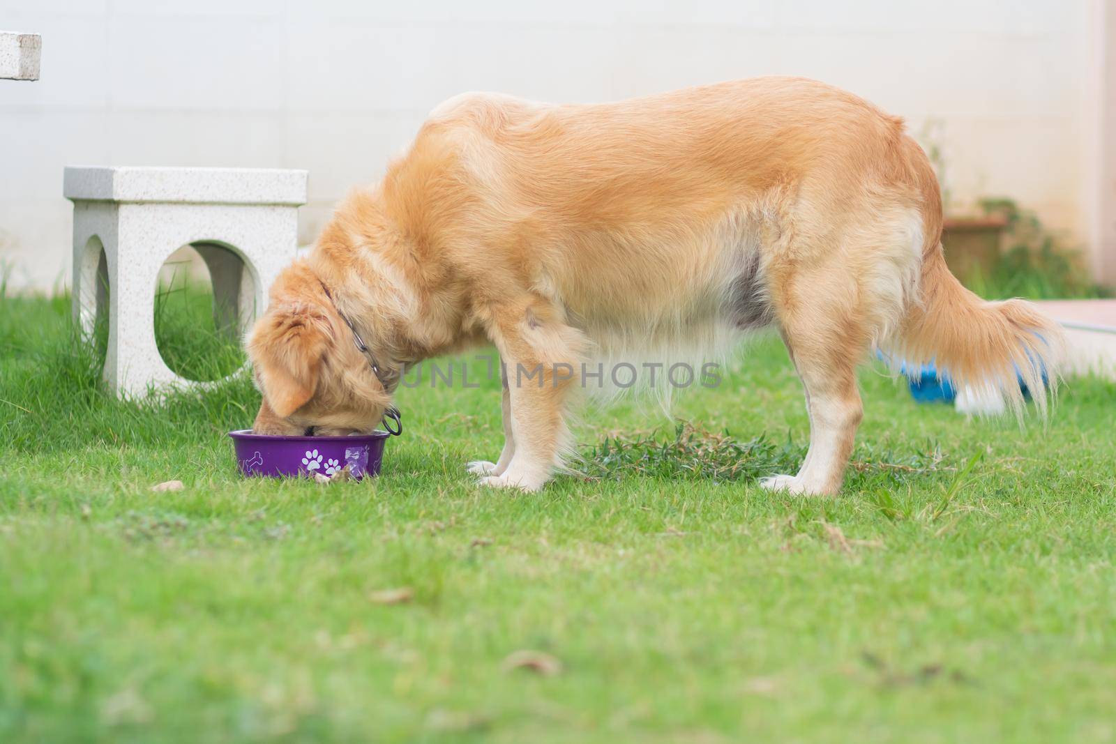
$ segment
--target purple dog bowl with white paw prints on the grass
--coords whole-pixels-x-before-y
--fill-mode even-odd
[[[246,428],[229,432],[244,475],[333,475],[348,465],[355,479],[378,475],[387,432],[352,436],[271,436]]]

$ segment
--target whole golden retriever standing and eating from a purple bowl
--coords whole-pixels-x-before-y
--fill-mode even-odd
[[[810,444],[797,475],[762,484],[831,494],[872,351],[934,361],[1017,414],[1018,374],[1046,413],[1057,327],[964,289],[941,234],[937,181],[902,119],[821,83],[599,105],[458,96],[271,288],[247,344],[254,426],[372,429],[405,368],[491,342],[508,370],[506,442],[469,468],[536,490],[569,446],[566,369],[680,348],[710,358],[770,326],[805,387]]]

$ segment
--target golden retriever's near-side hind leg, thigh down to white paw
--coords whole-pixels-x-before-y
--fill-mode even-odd
[[[810,448],[797,475],[764,479],[770,489],[840,489],[863,417],[856,368],[895,331],[916,291],[921,212],[902,193],[870,184],[865,193],[837,224],[801,210],[785,242],[773,244],[768,289],[806,389]]]

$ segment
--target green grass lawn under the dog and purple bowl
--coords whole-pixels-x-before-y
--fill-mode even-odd
[[[866,369],[846,489],[798,499],[754,481],[807,436],[764,339],[677,437],[590,407],[541,493],[464,473],[498,383],[402,390],[383,475],[324,486],[238,476],[243,379],[106,397],[67,315],[0,297],[0,742],[1116,738],[1109,384],[1020,431]]]

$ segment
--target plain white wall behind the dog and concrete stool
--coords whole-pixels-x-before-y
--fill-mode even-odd
[[[1096,0],[1091,0],[1096,1]],[[1003,194],[1088,231],[1087,0],[0,0],[42,33],[0,80],[0,261],[68,283],[65,164],[310,171],[301,239],[379,176],[440,100],[596,102],[764,74],[942,123],[963,202]]]

